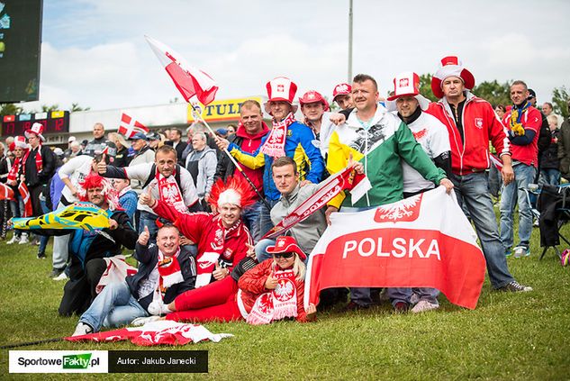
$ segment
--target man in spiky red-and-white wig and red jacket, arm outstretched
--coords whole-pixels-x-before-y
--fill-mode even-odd
[[[253,241],[241,214],[255,200],[256,194],[243,177],[231,177],[226,184],[219,179],[212,187],[210,204],[217,213],[180,213],[149,193],[140,195],[139,201],[159,217],[174,222],[186,238],[196,242],[197,288],[228,277],[246,257]]]

